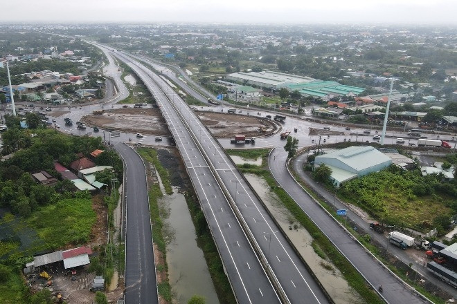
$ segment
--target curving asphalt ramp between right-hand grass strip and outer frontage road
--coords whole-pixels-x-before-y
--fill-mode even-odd
[[[276,161],[271,160],[271,157],[276,158]],[[287,153],[280,151],[280,149],[275,149],[271,157],[269,167],[276,181],[375,289],[379,285],[384,287],[382,296],[388,303],[429,303],[422,296],[406,287],[403,281],[388,272],[379,260],[369,254],[366,249],[341,228],[341,225],[336,220],[330,218],[329,213],[319,207],[305,193],[285,167]]]

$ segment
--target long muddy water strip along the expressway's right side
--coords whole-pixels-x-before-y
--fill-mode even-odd
[[[247,180],[256,190],[271,214],[279,222],[287,236],[292,240],[301,256],[310,265],[312,271],[321,281],[325,290],[330,294],[333,301],[338,304],[364,303],[363,299],[352,289],[347,281],[341,276],[339,270],[329,261],[319,258],[311,246],[312,237],[298,222],[294,222],[292,214],[281,204],[280,200],[269,189],[267,183],[257,175],[246,175]],[[294,226],[298,225],[298,227]],[[289,230],[292,227],[292,230]],[[325,269],[322,265],[332,266]]]

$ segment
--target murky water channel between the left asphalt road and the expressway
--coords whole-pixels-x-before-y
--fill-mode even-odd
[[[194,294],[204,296],[206,303],[219,303],[203,251],[197,247],[186,199],[178,191],[174,187],[173,194],[161,200],[162,207],[169,211],[164,237],[174,303],[187,303]]]

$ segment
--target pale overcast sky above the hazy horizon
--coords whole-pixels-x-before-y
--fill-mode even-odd
[[[6,0],[0,22],[456,24],[456,0]]]

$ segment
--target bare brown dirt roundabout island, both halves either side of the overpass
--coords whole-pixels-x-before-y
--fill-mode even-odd
[[[271,120],[255,116],[213,112],[196,114],[215,137],[233,137],[238,133],[255,137],[274,132],[278,128]],[[87,115],[82,121],[89,126],[98,126],[102,129],[153,135],[169,134],[160,110],[155,108],[120,108],[105,111],[102,115]]]

